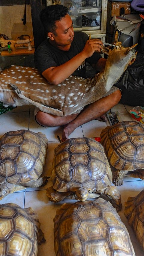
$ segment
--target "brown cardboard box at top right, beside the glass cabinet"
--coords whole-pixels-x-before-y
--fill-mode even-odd
[[[112,2],[111,16],[120,16],[121,8],[125,9],[125,14],[131,14],[131,7],[128,2]]]

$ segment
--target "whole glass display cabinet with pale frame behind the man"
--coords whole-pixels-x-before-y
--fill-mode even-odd
[[[74,30],[84,31],[91,38],[105,41],[107,0],[47,0],[47,5],[67,6]]]

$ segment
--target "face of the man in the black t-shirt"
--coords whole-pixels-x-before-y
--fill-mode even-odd
[[[57,46],[65,46],[71,44],[73,41],[74,31],[73,22],[70,16],[67,14],[61,20],[55,22],[56,35],[53,35],[55,44]]]

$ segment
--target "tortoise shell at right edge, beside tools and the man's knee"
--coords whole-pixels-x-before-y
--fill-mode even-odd
[[[144,125],[123,121],[102,130],[101,144],[112,166],[134,171],[144,168]]]

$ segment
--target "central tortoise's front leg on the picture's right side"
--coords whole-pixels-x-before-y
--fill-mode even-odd
[[[100,191],[100,193],[109,197],[111,204],[116,208],[117,212],[122,209],[121,194],[116,186],[108,186],[104,190]]]

